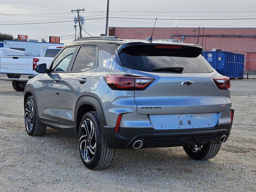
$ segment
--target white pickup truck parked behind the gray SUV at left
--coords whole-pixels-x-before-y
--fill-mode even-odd
[[[49,46],[44,56],[1,56],[0,80],[11,80],[16,91],[24,91],[26,82],[38,73],[34,70],[37,64],[46,63],[48,66],[63,46]]]

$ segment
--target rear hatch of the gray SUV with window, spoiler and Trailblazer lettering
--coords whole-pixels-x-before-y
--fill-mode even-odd
[[[155,78],[134,91],[138,114],[148,115],[155,129],[216,126],[227,110],[225,90],[216,86],[216,72],[200,53],[198,47],[154,44],[120,51],[127,74]]]

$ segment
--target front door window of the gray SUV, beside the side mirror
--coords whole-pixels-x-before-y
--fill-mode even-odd
[[[65,48],[58,57],[54,60],[52,64],[52,72],[63,72],[66,71],[68,68],[68,64],[70,62],[70,59],[72,58],[72,55],[75,51],[76,47],[68,47]]]

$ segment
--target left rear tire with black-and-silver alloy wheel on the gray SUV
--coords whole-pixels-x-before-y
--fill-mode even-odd
[[[78,130],[78,148],[87,168],[96,170],[110,166],[115,150],[108,147],[96,112],[88,112],[83,116]]]

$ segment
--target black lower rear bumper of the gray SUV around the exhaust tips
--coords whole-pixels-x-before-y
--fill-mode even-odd
[[[188,146],[195,144],[218,143],[220,137],[230,134],[231,124],[221,124],[214,128],[187,130],[155,130],[154,128],[119,128],[114,133],[113,127],[103,128],[104,137],[110,148],[132,148],[136,140],[142,140],[142,148]]]

